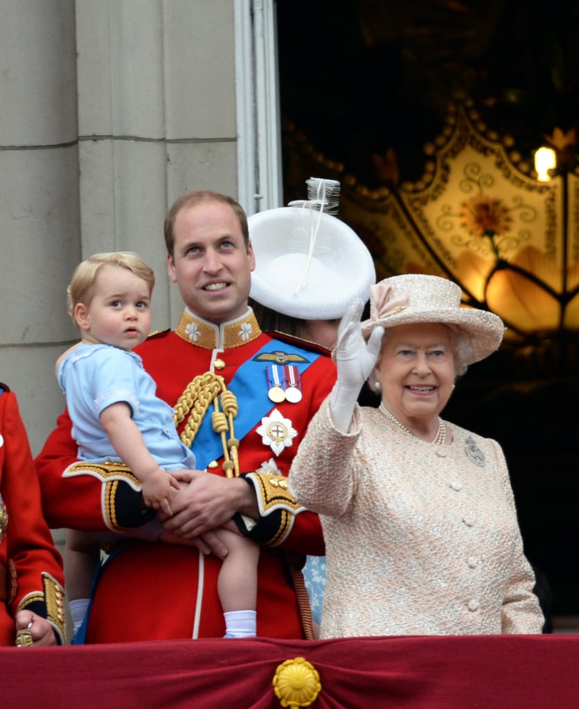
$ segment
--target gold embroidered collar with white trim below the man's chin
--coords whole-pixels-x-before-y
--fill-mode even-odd
[[[241,318],[221,325],[202,320],[185,308],[175,333],[186,342],[205,350],[228,350],[255,340],[261,335],[261,330],[251,308]]]

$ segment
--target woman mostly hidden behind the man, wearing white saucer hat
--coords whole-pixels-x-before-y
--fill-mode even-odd
[[[329,213],[337,208],[339,183],[312,177],[308,188],[308,201],[248,218],[255,253],[250,305],[262,330],[332,350],[341,317],[353,299],[368,301],[376,273],[363,241]],[[368,402],[375,398],[366,387],[363,396]],[[326,587],[325,557],[307,557],[302,573],[316,633]]]

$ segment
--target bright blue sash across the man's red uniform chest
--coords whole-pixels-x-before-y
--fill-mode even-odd
[[[227,387],[229,391],[235,394],[238,401],[238,413],[236,418],[233,419],[237,440],[243,440],[248,432],[258,425],[263,416],[272,411],[275,406],[272,406],[272,401],[268,397],[266,368],[268,364],[274,364],[276,360],[266,357],[258,361],[264,354],[272,354],[274,352],[297,355],[295,360],[290,359],[287,364],[297,367],[299,376],[302,376],[303,372],[321,356],[316,354],[316,352],[303,350],[302,347],[289,345],[287,342],[271,340],[271,342],[268,342],[261,350],[256,352],[254,357],[244,362],[238,368]],[[298,361],[301,358],[304,361]],[[212,460],[219,460],[224,454],[221,437],[214,432],[211,425],[212,408],[211,406],[204,416],[191,446],[197,458],[197,468],[200,470],[206,468]]]

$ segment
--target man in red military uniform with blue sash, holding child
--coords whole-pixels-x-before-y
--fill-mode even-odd
[[[255,257],[236,201],[211,191],[180,197],[167,213],[165,242],[186,308],[175,331],[135,351],[158,396],[175,406],[199,466],[182,473],[172,517],[150,521],[138,481],[118,465],[78,462],[66,412],[37,459],[52,527],[124,535],[107,548],[86,642],[222,637],[224,547],[211,530],[231,518],[262,545],[258,635],[311,637],[299,569],[305,554],[324,553],[324,542],[319,519],[295,505],[286,477],[335,366],[322,348],[260,330],[248,307]]]

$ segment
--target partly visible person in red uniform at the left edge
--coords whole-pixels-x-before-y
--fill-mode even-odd
[[[18,402],[0,384],[0,645],[62,644],[63,584]]]

